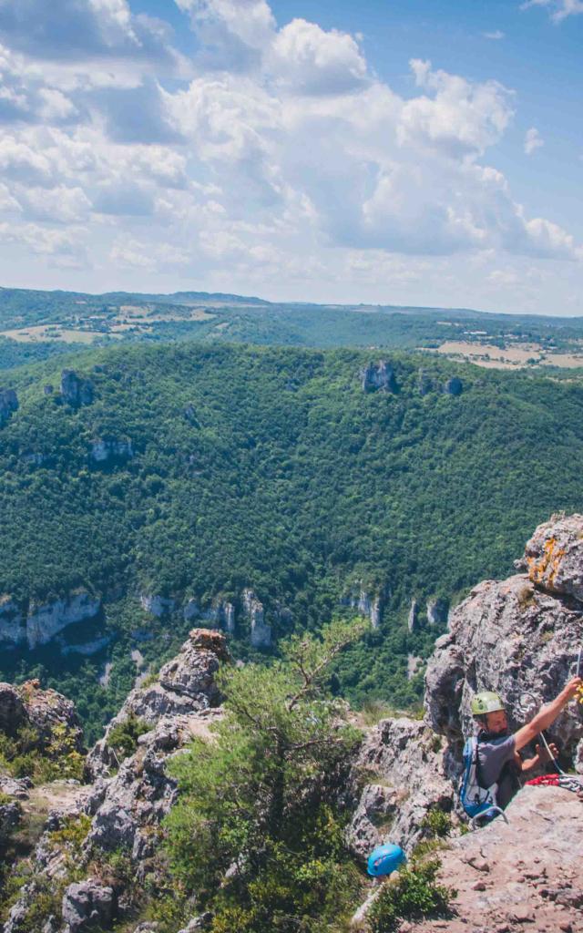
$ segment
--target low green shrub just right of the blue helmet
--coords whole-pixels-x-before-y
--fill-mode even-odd
[[[368,912],[371,933],[394,933],[401,920],[447,914],[457,892],[436,884],[439,867],[437,858],[424,864],[413,863],[399,871],[394,883],[385,884]]]

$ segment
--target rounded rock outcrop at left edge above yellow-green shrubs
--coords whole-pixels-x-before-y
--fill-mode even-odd
[[[15,736],[24,726],[37,735],[36,747],[46,752],[55,727],[66,728],[72,747],[83,750],[83,732],[75,705],[56,690],[40,689],[38,680],[27,680],[20,687],[0,684],[0,731]]]

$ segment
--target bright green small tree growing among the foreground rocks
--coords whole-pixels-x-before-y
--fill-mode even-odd
[[[321,639],[291,638],[270,668],[225,670],[226,717],[174,761],[171,869],[214,913],[214,933],[331,929],[326,915],[337,923],[342,892],[354,895],[337,789],[360,733],[326,677],[363,627],[334,622]]]

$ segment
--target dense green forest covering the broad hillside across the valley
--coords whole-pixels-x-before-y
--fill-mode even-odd
[[[5,373],[20,409],[0,429],[0,593],[46,602],[85,588],[104,618],[67,638],[112,641],[90,659],[56,644],[3,650],[0,675],[74,693],[95,730],[132,682],[136,631],[156,663],[189,627],[180,611],[149,616],[140,593],[178,608],[229,599],[235,650],[251,657],[244,588],[277,637],[319,630],[363,588],[382,594],[382,625],[338,662],[335,689],[414,703],[407,656],[439,632],[426,600],[507,574],[537,522],[583,507],[583,387],[393,354],[393,390],[365,392],[361,370],[378,358],[192,342],[86,351],[66,357],[92,384],[80,407],[59,393],[65,357]],[[444,391],[453,375],[457,396]],[[121,453],[95,461],[96,440]]]

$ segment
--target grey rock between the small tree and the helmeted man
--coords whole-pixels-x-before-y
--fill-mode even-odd
[[[365,858],[380,842],[410,850],[423,838],[423,816],[430,809],[450,811],[454,787],[438,737],[423,722],[383,719],[368,731],[351,776],[362,787],[347,831],[355,856]]]

